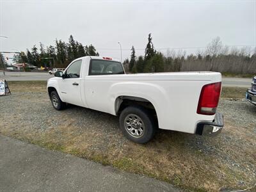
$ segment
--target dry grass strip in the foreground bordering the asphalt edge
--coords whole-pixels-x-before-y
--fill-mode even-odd
[[[10,132],[8,127],[3,127],[5,129],[1,128],[1,134],[6,136],[12,136],[51,150],[60,150],[104,165],[111,165],[125,172],[145,174],[188,191],[216,191],[221,186],[233,186],[230,182],[234,182],[234,178],[244,180],[243,175],[222,166],[220,162],[217,163],[219,164],[217,169],[225,174],[225,180],[214,175],[212,173],[213,170],[216,170],[216,163],[212,161],[214,157],[205,156],[202,152],[198,153],[197,150],[184,148],[180,144],[183,142],[177,141],[191,140],[192,136],[189,134],[186,134],[186,138],[182,138],[179,137],[179,135],[183,135],[181,133],[175,135],[162,131],[162,134],[148,145],[137,145],[128,141],[129,145],[124,145],[123,152],[120,154],[120,150],[116,150],[112,145],[109,145],[106,150],[90,148],[100,143],[100,140],[88,136],[86,131],[80,132],[77,136],[72,134],[79,131],[76,127],[70,129],[70,127],[60,126],[45,132],[28,131],[27,133],[21,129]],[[113,141],[113,143],[115,142]],[[104,143],[104,145],[108,145],[108,143]]]

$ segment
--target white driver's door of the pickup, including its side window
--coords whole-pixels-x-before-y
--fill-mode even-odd
[[[59,81],[60,94],[63,102],[83,106],[81,99],[81,64],[82,60],[74,61],[64,73],[64,79]]]

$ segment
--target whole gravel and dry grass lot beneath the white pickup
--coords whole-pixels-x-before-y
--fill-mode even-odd
[[[256,107],[242,100],[244,88],[223,88],[218,110],[225,116],[225,129],[219,136],[160,130],[153,141],[138,145],[122,136],[116,116],[72,105],[56,111],[45,84],[9,83],[12,95],[0,97],[0,134],[188,191],[231,191],[256,183]]]

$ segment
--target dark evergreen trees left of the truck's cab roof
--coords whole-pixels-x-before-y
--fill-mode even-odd
[[[31,50],[27,49],[25,54],[14,55],[13,61],[31,63],[37,67],[65,68],[71,61],[83,56],[99,56],[99,53],[92,44],[84,46],[70,35],[68,43],[56,39],[55,45],[49,45],[45,49],[44,44],[40,42],[39,49],[34,45]]]

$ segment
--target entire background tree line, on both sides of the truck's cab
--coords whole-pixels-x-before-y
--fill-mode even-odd
[[[74,40],[70,35],[68,43],[55,40],[55,45],[39,49],[34,45],[26,54],[13,56],[16,63],[31,63],[37,67],[67,67],[81,56],[99,56],[93,45],[86,45]],[[6,61],[0,54],[0,65]],[[53,65],[54,64],[54,65]],[[152,35],[148,34],[148,42],[143,56],[136,56],[134,46],[131,47],[131,57],[124,61],[125,72],[179,72],[179,71],[216,71],[224,74],[256,74],[256,48],[228,47],[222,44],[220,37],[210,42],[204,51],[186,55],[182,49],[168,49],[166,54],[156,51],[152,43]]]

